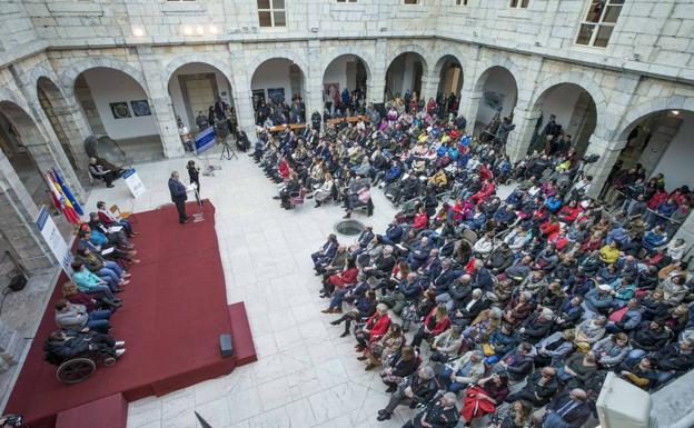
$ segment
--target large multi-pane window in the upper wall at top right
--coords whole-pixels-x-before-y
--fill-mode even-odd
[[[586,18],[581,23],[576,44],[605,48],[622,12],[624,0],[592,0]]]

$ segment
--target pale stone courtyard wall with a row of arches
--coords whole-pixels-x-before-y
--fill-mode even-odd
[[[463,71],[459,112],[470,123],[489,69],[500,67],[517,87],[516,130],[507,146],[513,159],[527,151],[547,94],[558,84],[573,83],[591,96],[597,113],[587,148],[601,155],[588,168],[595,191],[640,118],[658,110],[694,110],[691,2],[626,2],[604,49],[574,42],[587,0],[531,0],[528,9],[512,9],[507,0],[469,0],[468,6],[453,0],[414,6],[401,0],[286,3],[287,26],[267,29],[259,28],[255,0],[4,2],[0,102],[16,106],[16,119],[30,128],[39,167],[60,166],[78,195],[83,191],[78,173],[83,171],[69,167],[40,108],[37,82],[50,82],[48,94],[83,166],[82,140],[91,131],[75,97],[75,81],[97,67],[120,70],[141,84],[169,158],[182,155],[182,147],[167,86],[176,69],[189,62],[207,63],[228,78],[239,122],[249,135],[250,81],[268,59],[286,58],[301,69],[310,113],[320,110],[326,68],[341,54],[365,62],[373,102],[384,101],[386,71],[398,54],[422,57],[424,98],[436,96],[440,69],[453,57]],[[4,173],[7,191],[21,198],[21,183],[12,171]]]

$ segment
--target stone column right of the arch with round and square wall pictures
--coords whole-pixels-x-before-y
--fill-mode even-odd
[[[163,66],[149,46],[137,48],[145,82],[142,86],[149,96],[149,104],[159,127],[159,137],[163,147],[163,156],[178,158],[184,156],[184,145],[178,135],[176,113],[165,80]]]

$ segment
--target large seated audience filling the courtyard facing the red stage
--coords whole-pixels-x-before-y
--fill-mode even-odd
[[[397,104],[258,129],[251,153],[285,208],[313,195],[348,217],[376,186],[400,206],[383,232],[330,235],[311,255],[323,312],[391,394],[378,420],[406,405],[418,409],[407,427],[579,427],[608,371],[651,391],[694,367],[688,245],[668,221],[688,213],[688,188],[637,169],[621,181],[627,198],[605,206],[571,146],[512,163],[508,132],[473,138],[464,118]],[[503,199],[499,182],[515,182]]]

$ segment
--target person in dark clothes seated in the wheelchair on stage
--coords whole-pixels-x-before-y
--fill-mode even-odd
[[[51,332],[43,344],[46,360],[52,365],[62,362],[92,352],[111,357],[121,357],[126,354],[126,342],[116,340],[113,337],[92,331],[88,328],[81,330],[61,329]]]

